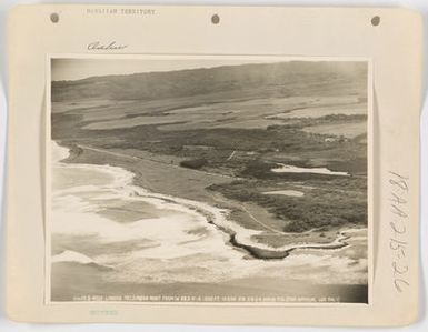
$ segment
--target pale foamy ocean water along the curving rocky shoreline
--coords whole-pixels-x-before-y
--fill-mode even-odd
[[[61,162],[68,149],[52,142],[51,282],[69,286],[56,265],[68,266],[73,286],[88,288],[88,274],[116,284],[221,285],[260,279],[287,284],[365,285],[367,230],[349,230],[349,245],[335,249],[298,249],[281,260],[251,258],[229,243],[257,243],[259,233],[239,227],[229,211],[203,202],[153,193],[132,184],[133,174],[111,165]],[[270,250],[275,250],[269,248]],[[278,250],[283,250],[278,249]],[[91,266],[79,278],[82,266]],[[96,269],[93,269],[96,266]],[[66,292],[64,291],[64,292]]]

